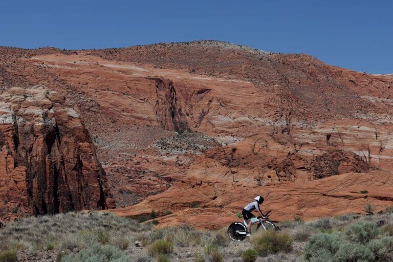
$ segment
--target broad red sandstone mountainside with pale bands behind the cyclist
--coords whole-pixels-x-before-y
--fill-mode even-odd
[[[45,84],[80,113],[119,215],[211,228],[255,194],[275,220],[393,205],[392,75],[219,41],[0,55],[4,90]]]

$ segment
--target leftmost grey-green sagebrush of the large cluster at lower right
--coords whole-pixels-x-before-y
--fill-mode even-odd
[[[339,233],[317,233],[309,238],[303,246],[302,259],[304,261],[332,261],[341,242]]]

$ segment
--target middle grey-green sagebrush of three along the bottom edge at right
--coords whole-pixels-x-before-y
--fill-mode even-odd
[[[373,261],[374,254],[368,248],[356,243],[342,243],[333,256],[334,262]]]

